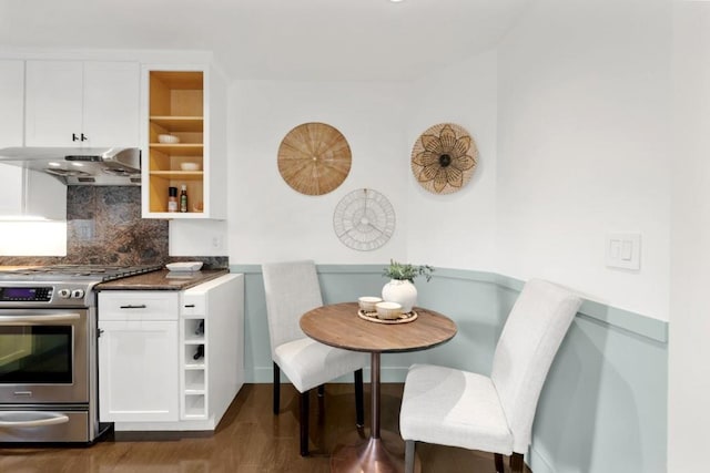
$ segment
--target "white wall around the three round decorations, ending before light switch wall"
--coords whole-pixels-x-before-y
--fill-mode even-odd
[[[239,81],[230,91],[230,263],[282,258],[384,263],[389,258],[459,268],[493,266],[495,196],[495,53],[468,58],[415,83]],[[328,123],[347,138],[351,174],[324,196],[296,193],[276,166],[294,126]],[[432,125],[453,122],[478,142],[468,186],[429,194],[410,171],[412,147]],[[333,232],[333,210],[351,191],[369,187],[393,204],[397,227],[381,249],[356,251]]]

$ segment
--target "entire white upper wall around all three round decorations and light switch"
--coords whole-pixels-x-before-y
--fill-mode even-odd
[[[672,160],[670,0],[531,2],[496,51],[413,83],[237,81],[230,89],[230,260],[389,258],[547,277],[594,300],[668,320]],[[320,121],[353,151],[341,187],[305,196],[276,167],[281,140]],[[423,189],[412,146],[465,126],[479,165],[463,191]],[[361,253],[333,233],[348,192],[383,192],[397,230]],[[639,232],[641,269],[606,267],[606,235]]]

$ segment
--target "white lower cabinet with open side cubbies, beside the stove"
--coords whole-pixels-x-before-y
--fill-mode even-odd
[[[99,413],[116,431],[214,430],[244,383],[244,277],[99,292]]]

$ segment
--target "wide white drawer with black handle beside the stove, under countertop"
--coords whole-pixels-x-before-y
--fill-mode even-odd
[[[178,292],[99,292],[99,320],[178,320]]]

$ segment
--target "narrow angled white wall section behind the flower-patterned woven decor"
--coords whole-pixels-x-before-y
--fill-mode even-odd
[[[496,52],[466,58],[432,71],[413,84],[403,169],[409,169],[419,135],[439,123],[466,128],[478,147],[478,164],[460,191],[437,195],[407,175],[408,256],[446,268],[494,270],[496,228]]]

